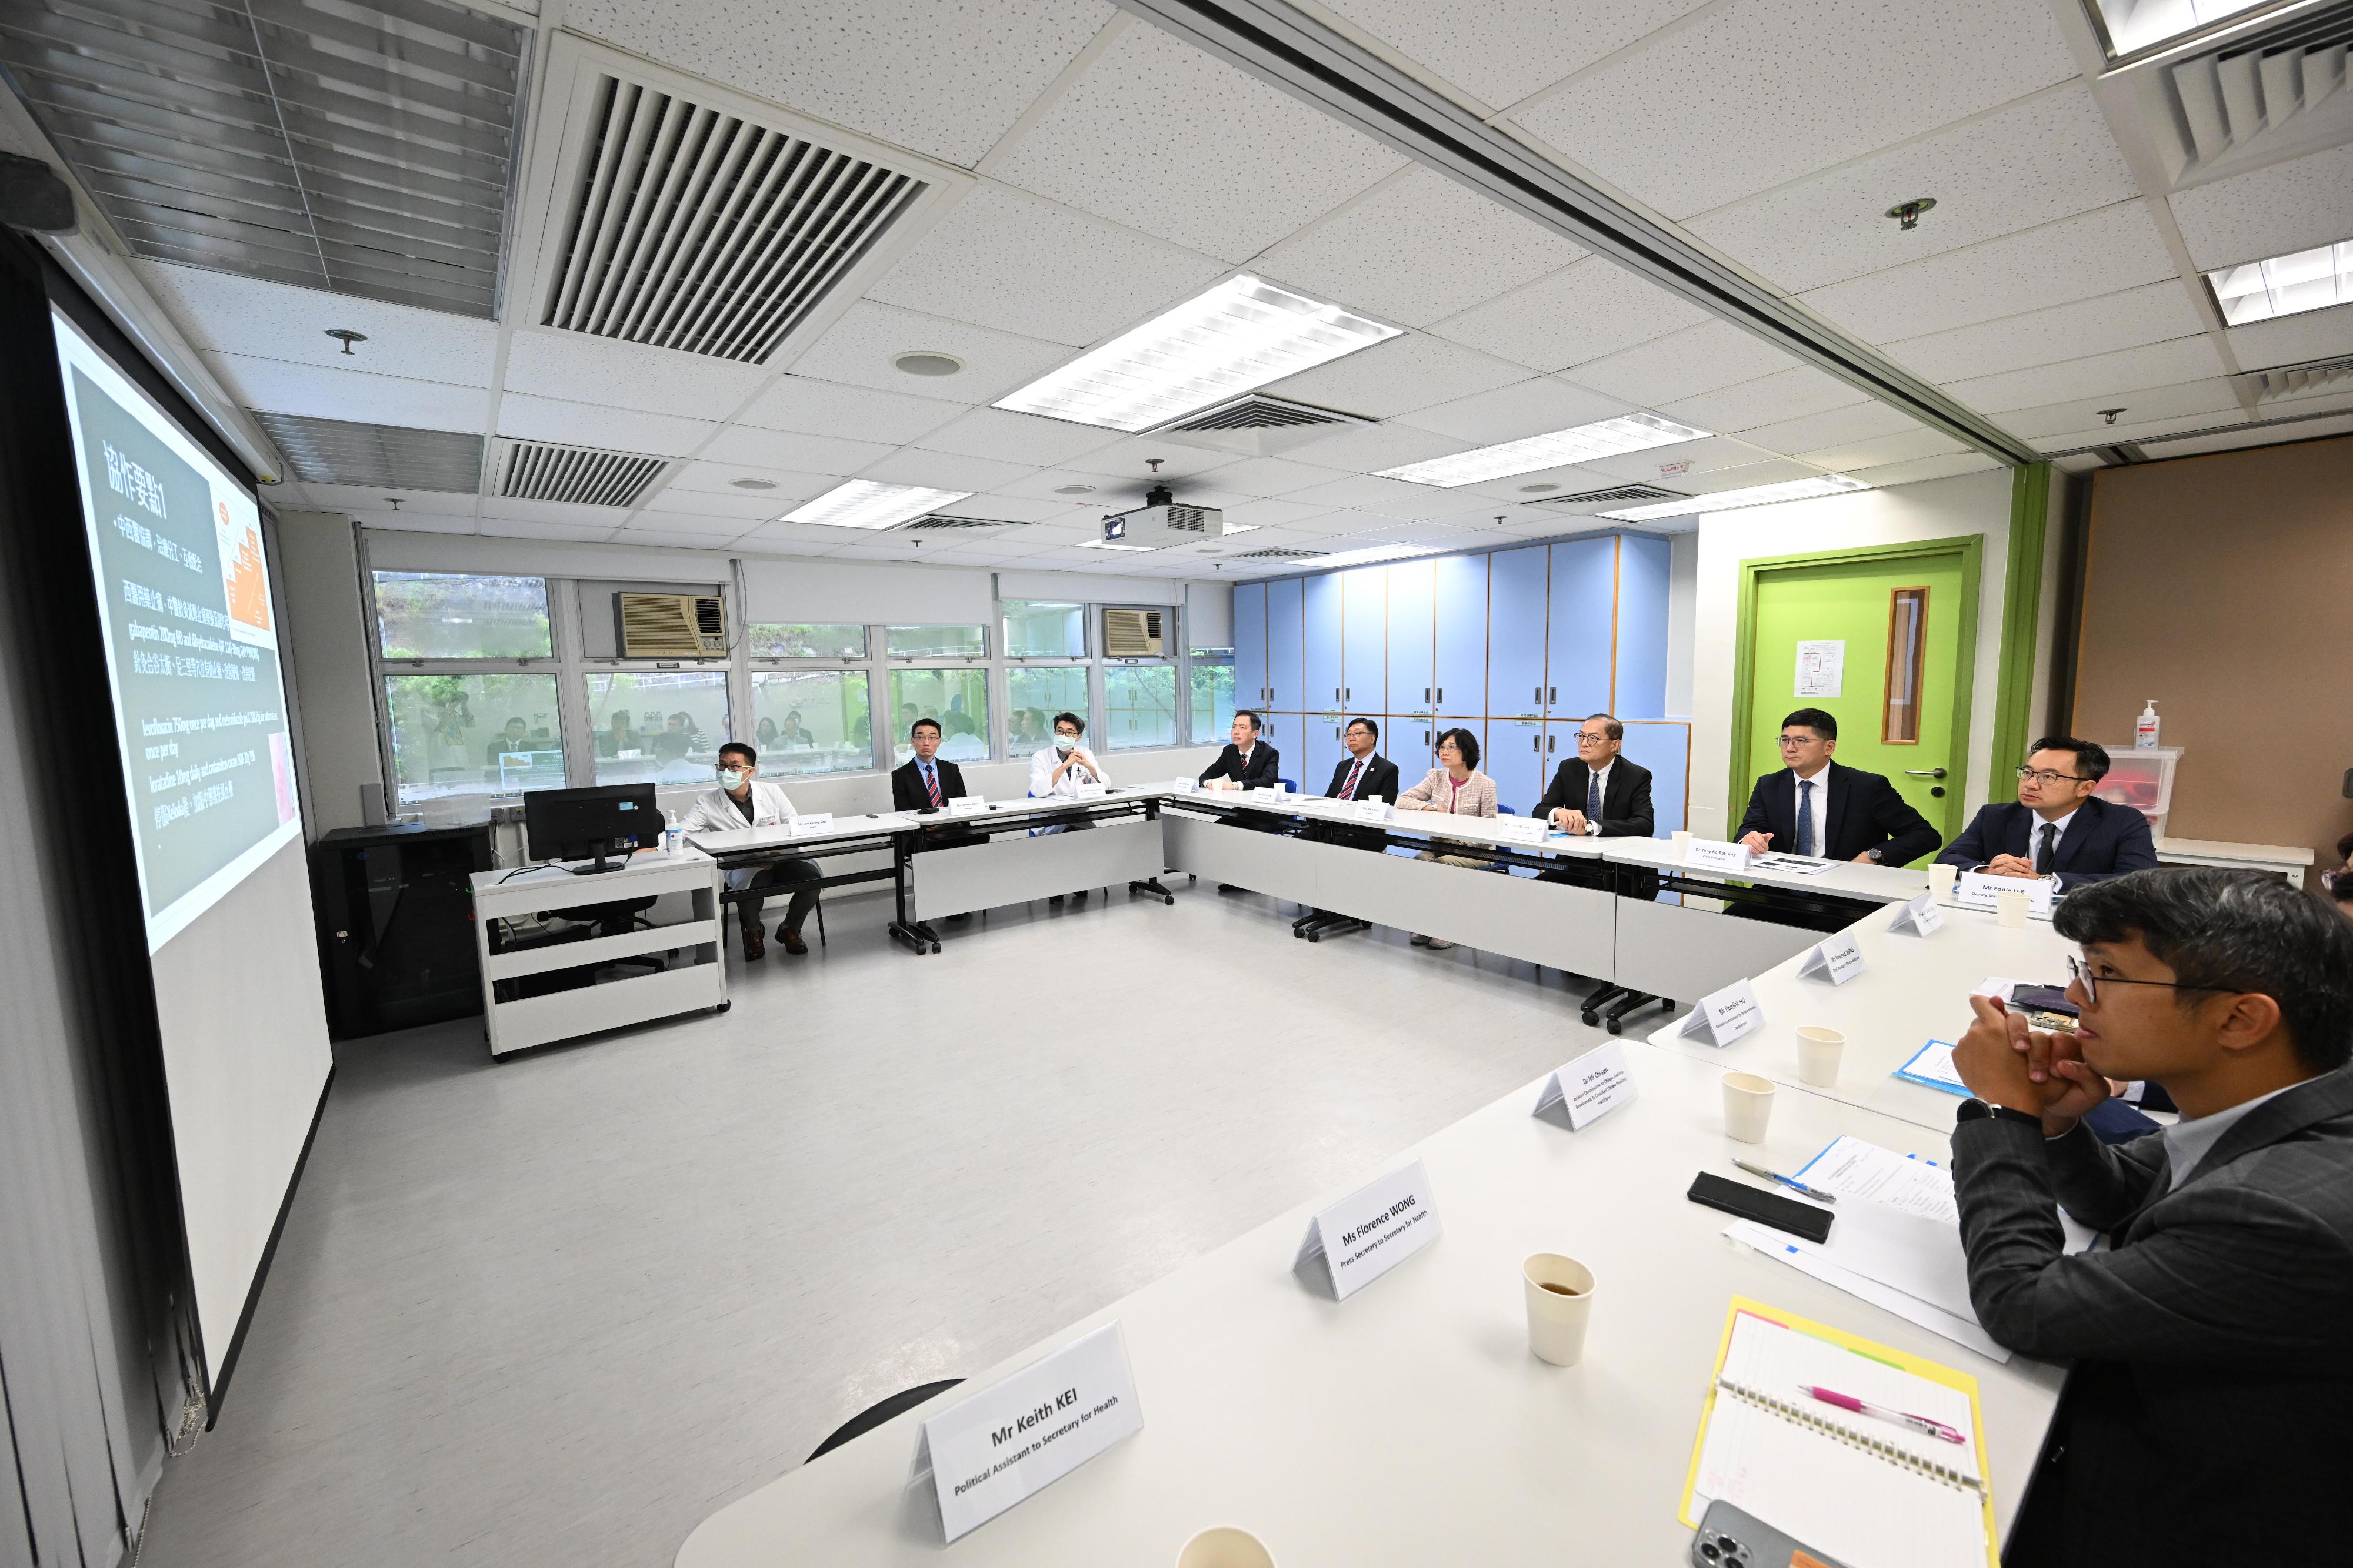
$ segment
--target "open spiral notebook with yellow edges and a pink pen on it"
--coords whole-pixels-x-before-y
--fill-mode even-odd
[[[1965,1441],[1819,1403],[1802,1385]],[[1746,1298],[1725,1321],[1682,1523],[1699,1528],[1718,1497],[1849,1568],[2000,1568],[1977,1378]]]

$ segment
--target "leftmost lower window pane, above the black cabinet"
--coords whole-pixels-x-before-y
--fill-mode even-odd
[[[553,675],[386,675],[400,804],[565,783]]]

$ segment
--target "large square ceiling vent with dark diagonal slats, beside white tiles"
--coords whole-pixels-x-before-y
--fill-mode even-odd
[[[925,183],[605,78],[546,327],[758,362]]]

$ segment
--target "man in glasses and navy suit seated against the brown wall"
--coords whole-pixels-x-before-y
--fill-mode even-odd
[[[2057,877],[2064,893],[2155,867],[2148,818],[2132,806],[2092,799],[2106,776],[2106,748],[2075,736],[2035,741],[2019,766],[2017,804],[1979,809],[1937,865],[1988,877]]]

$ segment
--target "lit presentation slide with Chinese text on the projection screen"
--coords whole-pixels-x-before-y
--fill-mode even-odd
[[[148,952],[301,835],[261,510],[64,315]]]

